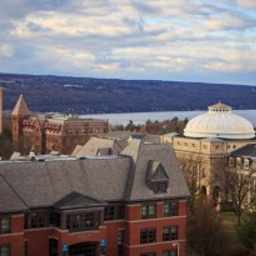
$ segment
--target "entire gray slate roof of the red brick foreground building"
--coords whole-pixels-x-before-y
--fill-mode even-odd
[[[167,193],[154,194],[147,187],[149,160],[163,166],[169,177]],[[0,161],[0,213],[188,195],[186,181],[170,143],[153,145],[134,139],[119,157]]]

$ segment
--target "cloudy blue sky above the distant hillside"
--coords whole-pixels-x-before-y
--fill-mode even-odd
[[[256,85],[256,0],[0,0],[0,72]]]

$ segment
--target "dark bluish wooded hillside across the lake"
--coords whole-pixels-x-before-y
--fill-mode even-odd
[[[33,111],[124,113],[199,110],[219,100],[236,109],[256,109],[256,87],[0,74],[4,108],[13,109],[19,94]]]

